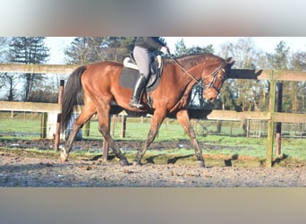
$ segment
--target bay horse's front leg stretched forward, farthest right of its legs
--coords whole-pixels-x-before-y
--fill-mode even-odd
[[[176,113],[176,118],[177,118],[177,121],[180,123],[180,125],[183,126],[183,129],[185,130],[185,132],[189,135],[191,139],[192,148],[195,151],[195,155],[198,159],[199,166],[205,168],[202,151],[200,150],[199,143],[196,138],[196,134],[194,133],[194,130],[191,126],[188,111],[186,109],[180,110],[179,112]]]

